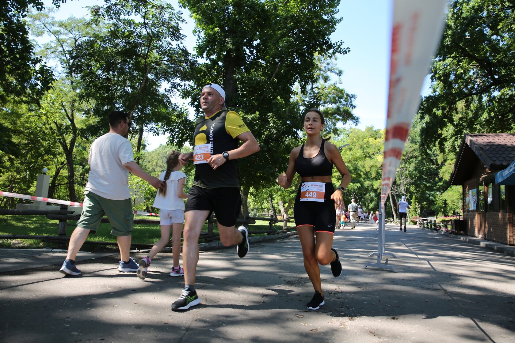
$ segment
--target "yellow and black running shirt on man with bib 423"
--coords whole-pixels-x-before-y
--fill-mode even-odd
[[[195,122],[195,146],[210,145],[210,156],[238,147],[238,135],[250,131],[234,111],[219,111]],[[235,160],[228,160],[214,170],[209,164],[196,164],[193,185],[201,188],[238,187]]]

